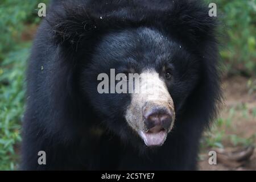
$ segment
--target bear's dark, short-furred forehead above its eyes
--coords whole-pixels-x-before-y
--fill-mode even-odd
[[[158,30],[141,27],[104,35],[96,47],[95,54],[97,56],[100,53],[105,59],[112,61],[155,63],[170,57],[174,44]]]

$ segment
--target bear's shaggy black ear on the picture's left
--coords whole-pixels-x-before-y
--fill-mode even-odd
[[[82,5],[75,5],[70,1],[60,2],[58,5],[53,3],[49,9],[47,22],[56,44],[77,46],[81,40],[92,38],[98,30],[97,22],[100,17],[93,16]]]

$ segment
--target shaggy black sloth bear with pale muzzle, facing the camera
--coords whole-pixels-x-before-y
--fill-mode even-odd
[[[53,0],[28,64],[21,168],[197,169],[221,100],[208,11],[193,0]],[[149,73],[158,97],[99,92],[101,73],[113,88],[112,70],[114,84]]]

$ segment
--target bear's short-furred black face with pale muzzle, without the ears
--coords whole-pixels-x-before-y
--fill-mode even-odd
[[[199,80],[198,58],[151,28],[110,32],[90,56],[83,92],[108,129],[161,146]]]

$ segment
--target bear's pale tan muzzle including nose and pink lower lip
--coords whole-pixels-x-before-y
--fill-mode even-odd
[[[147,146],[164,143],[174,126],[175,111],[167,86],[158,73],[148,70],[139,75],[125,118]]]

